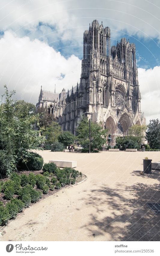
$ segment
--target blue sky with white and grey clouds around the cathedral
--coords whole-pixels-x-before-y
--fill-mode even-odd
[[[91,4],[92,3],[92,4]],[[83,31],[97,19],[136,44],[142,111],[160,119],[159,0],[5,0],[0,2],[0,94],[37,103],[41,85],[60,92],[80,79]]]

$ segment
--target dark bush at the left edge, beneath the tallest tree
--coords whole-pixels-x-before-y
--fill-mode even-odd
[[[5,150],[0,150],[0,174],[6,176],[16,170],[15,157]]]

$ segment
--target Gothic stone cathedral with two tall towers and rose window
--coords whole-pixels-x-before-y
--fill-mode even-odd
[[[132,125],[146,124],[140,102],[135,45],[122,38],[111,47],[110,28],[94,20],[83,33],[80,83],[59,94],[41,88],[36,107],[47,109],[64,131],[74,134],[83,114],[102,122],[114,144]]]

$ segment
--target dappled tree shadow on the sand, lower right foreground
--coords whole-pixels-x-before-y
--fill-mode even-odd
[[[119,183],[114,189],[101,186],[83,199],[87,206],[96,209],[96,214],[91,215],[89,223],[82,228],[88,229],[97,240],[159,241],[160,214],[155,215],[147,206],[147,203],[158,203],[159,198],[158,184],[136,183],[125,190]]]

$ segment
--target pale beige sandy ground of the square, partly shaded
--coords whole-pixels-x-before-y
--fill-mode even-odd
[[[159,171],[140,175],[143,158],[160,152],[38,152],[49,160],[76,160],[86,181],[65,188],[1,229],[1,241],[159,241]]]

